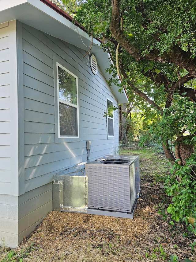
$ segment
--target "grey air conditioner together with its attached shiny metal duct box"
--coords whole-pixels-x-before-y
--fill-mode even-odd
[[[138,156],[104,156],[55,175],[55,210],[133,219],[140,194]]]

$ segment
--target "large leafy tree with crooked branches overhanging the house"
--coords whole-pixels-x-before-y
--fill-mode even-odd
[[[181,165],[196,143],[195,15],[196,0],[89,0],[76,15],[110,52],[111,81],[119,75],[126,92],[143,100],[147,117],[156,115],[152,134]]]

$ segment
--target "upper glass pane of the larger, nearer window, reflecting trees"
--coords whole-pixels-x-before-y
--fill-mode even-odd
[[[77,105],[76,78],[58,67],[58,97],[60,100]]]

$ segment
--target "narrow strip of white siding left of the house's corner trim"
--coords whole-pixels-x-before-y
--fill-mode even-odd
[[[0,25],[0,194],[10,192],[9,28]]]

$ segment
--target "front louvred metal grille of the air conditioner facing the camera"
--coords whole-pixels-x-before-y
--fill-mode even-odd
[[[89,208],[131,212],[129,166],[89,165],[88,172]]]

